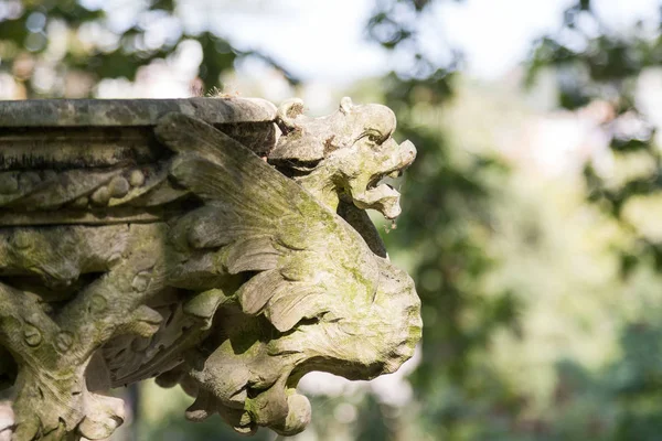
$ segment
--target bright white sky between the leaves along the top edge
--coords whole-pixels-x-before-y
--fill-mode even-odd
[[[191,25],[202,10],[212,29],[239,47],[259,49],[305,79],[331,84],[378,75],[393,63],[364,37],[374,0],[188,0]],[[525,58],[531,42],[559,29],[572,0],[440,2],[426,19],[431,51],[442,40],[462,50],[469,74],[493,79]],[[658,0],[594,0],[610,28],[659,19]],[[241,6],[237,6],[241,4]],[[189,8],[186,8],[189,9]],[[257,11],[257,13],[256,13]],[[218,23],[218,24],[215,24]]]

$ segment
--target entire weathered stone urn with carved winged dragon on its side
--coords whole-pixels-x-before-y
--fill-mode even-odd
[[[305,429],[311,370],[370,379],[420,337],[412,279],[365,214],[416,155],[384,106],[0,103],[0,388],[12,439],[109,437],[104,391],[156,377],[186,417]]]

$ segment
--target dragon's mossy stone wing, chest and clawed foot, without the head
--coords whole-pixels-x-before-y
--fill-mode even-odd
[[[356,229],[204,121],[170,114],[156,133],[178,153],[170,175],[204,202],[174,223],[170,240],[182,252],[213,252],[218,273],[245,276],[232,294],[239,310],[222,313],[223,331],[181,377],[196,385],[189,418],[217,412],[241,432],[293,434],[310,406],[292,377],[321,369],[367,379],[413,355],[414,284]]]

